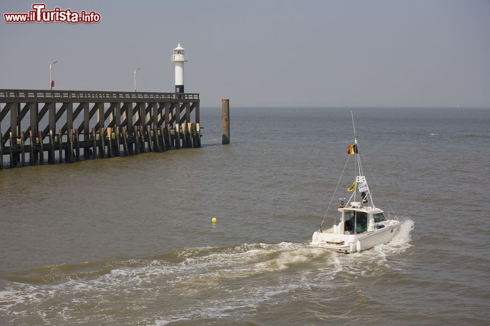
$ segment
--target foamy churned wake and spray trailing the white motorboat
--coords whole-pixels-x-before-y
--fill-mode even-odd
[[[409,221],[392,242],[354,255],[405,250],[412,228]],[[143,260],[45,266],[0,279],[0,322],[135,323],[134,316],[125,319],[128,310],[138,311],[136,323],[145,325],[249,316],[259,307],[273,310],[274,302],[298,290],[335,280],[354,255],[306,242],[244,243],[182,248]]]

